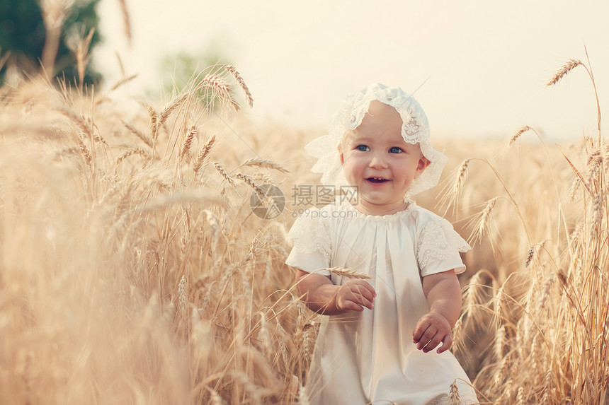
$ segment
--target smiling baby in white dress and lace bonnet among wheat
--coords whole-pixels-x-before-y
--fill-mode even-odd
[[[477,403],[448,351],[461,311],[459,252],[469,245],[410,199],[437,184],[446,161],[431,146],[419,103],[400,88],[368,86],[307,151],[319,158],[312,170],[321,182],[357,190],[356,201],[309,209],[290,230],[286,263],[297,268],[302,300],[329,315],[307,375],[309,399],[448,404],[455,382],[462,403]]]

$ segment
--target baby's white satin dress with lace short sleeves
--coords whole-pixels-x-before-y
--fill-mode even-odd
[[[423,353],[412,343],[429,310],[421,277],[465,271],[459,252],[469,245],[448,221],[409,202],[387,216],[329,204],[307,210],[290,230],[287,264],[331,276],[335,285],[348,278],[320,269],[360,271],[377,293],[373,310],[322,317],[306,382],[312,404],[448,404],[455,379],[462,403],[477,403],[452,353]]]

